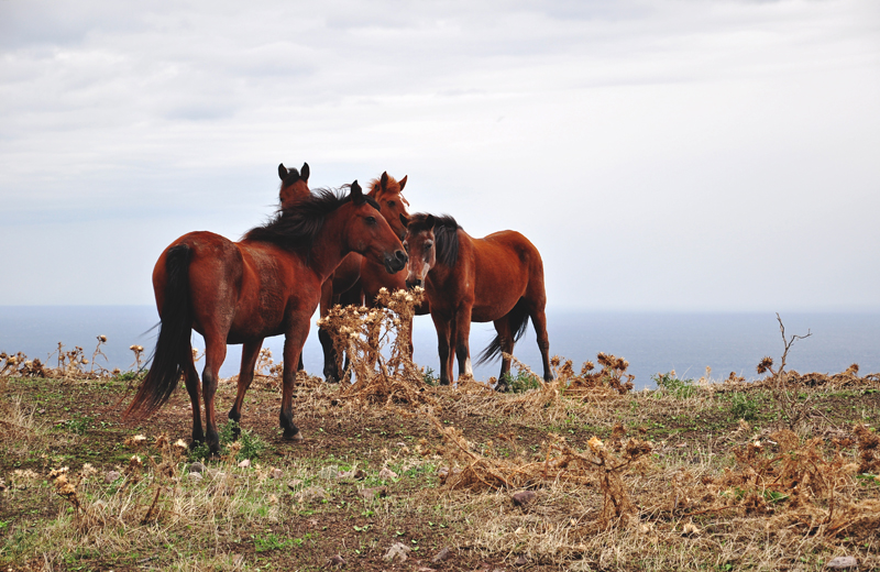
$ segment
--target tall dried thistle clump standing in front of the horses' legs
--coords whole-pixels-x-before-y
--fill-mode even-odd
[[[421,288],[394,294],[382,288],[376,297],[381,307],[336,306],[318,320],[333,339],[340,371],[348,354],[350,371],[344,376],[355,376],[352,385],[339,392],[338,399],[385,405],[435,402],[409,348],[415,307],[424,296]]]

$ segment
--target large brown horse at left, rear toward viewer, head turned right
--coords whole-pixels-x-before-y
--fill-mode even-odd
[[[195,329],[206,344],[207,443],[218,452],[215,393],[227,344],[243,344],[239,391],[229,411],[229,418],[238,421],[263,339],[284,334],[278,419],[285,439],[301,440],[292,410],[295,364],[320,301],[321,284],[349,252],[384,264],[388,273],[406,265],[400,240],[378,210],[355,180],[348,196],[322,189],[293,201],[240,242],[210,232],[190,232],[174,241],[153,270],[162,320],[153,363],[125,415],[142,418],[155,411],[168,400],[183,374],[193,404],[193,441],[205,440],[189,341]]]

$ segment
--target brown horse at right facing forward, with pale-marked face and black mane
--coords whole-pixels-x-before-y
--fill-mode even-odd
[[[404,222],[402,220],[402,222]],[[409,254],[407,286],[424,286],[437,328],[440,383],[448,385],[458,354],[459,375],[473,375],[469,337],[471,322],[495,323],[497,336],[480,358],[485,362],[505,352],[525,333],[531,317],[550,381],[543,262],[522,234],[505,230],[483,239],[471,238],[452,217],[414,215],[404,246]],[[504,388],[510,360],[502,358],[498,389]]]

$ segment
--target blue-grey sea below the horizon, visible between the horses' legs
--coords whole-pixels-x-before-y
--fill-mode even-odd
[[[317,316],[315,317],[317,319]],[[312,319],[312,324],[315,322]],[[862,314],[783,314],[788,334],[811,337],[794,342],[789,352],[789,369],[804,372],[836,373],[858,363],[860,373],[880,372],[880,312]],[[134,365],[132,344],[152,352],[158,321],[153,306],[0,306],[0,351],[23,352],[55,364],[53,352],[62,342],[65,350],[78,345],[91,358],[98,336],[107,336],[102,351],[107,360],[98,364],[112,370]],[[548,310],[550,353],[574,361],[595,361],[598,352],[625,358],[637,388],[656,387],[651,377],[674,370],[679,377],[700,377],[706,366],[712,377],[722,380],[730,372],[752,380],[755,366],[765,355],[777,362],[783,343],[773,312],[602,312]],[[494,337],[491,323],[471,327],[471,354],[477,355]],[[194,333],[194,348],[205,348]],[[264,345],[276,362],[282,359],[282,337],[270,338]],[[437,334],[430,317],[416,318],[415,359],[419,365],[439,371]],[[514,354],[537,373],[541,360],[529,329],[517,343]],[[230,345],[221,376],[238,373],[241,346]],[[321,348],[312,327],[306,342],[306,370],[320,375]],[[200,362],[199,367],[204,362]],[[498,363],[479,366],[475,375],[486,380],[498,374]]]

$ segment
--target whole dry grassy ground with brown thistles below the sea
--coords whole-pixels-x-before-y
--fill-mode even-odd
[[[279,438],[278,386],[263,384],[200,477],[190,461],[205,455],[176,443],[190,431],[184,392],[129,427],[111,407],[121,375],[2,377],[0,565],[326,570],[338,554],[384,570],[400,542],[402,568],[443,548],[450,560],[430,568],[822,570],[840,554],[880,566],[876,378],[795,387],[810,408],[791,431],[766,384],[670,372],[631,392],[625,361],[600,363],[576,375],[557,361],[547,384],[520,373],[508,394],[416,370],[409,386],[353,397],[301,378],[299,446]],[[221,383],[218,410],[234,394]],[[517,506],[520,491],[536,497]]]

